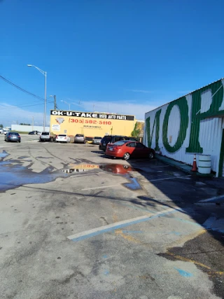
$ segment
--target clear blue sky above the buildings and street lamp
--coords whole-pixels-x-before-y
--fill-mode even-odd
[[[223,11],[223,0],[0,0],[0,75],[43,97],[35,64],[59,109],[144,118],[224,76]],[[0,80],[0,123],[41,124],[36,101]]]

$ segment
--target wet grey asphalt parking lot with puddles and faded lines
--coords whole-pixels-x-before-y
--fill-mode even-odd
[[[224,298],[223,179],[0,135],[0,298]]]

